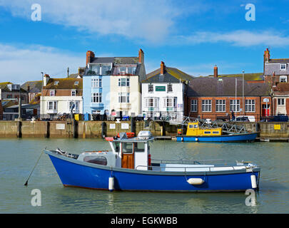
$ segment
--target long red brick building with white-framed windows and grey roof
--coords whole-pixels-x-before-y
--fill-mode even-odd
[[[233,111],[235,117],[250,115],[256,121],[271,115],[269,83],[248,83],[239,77],[218,78],[216,68],[215,74],[213,78],[195,78],[188,84],[185,115],[211,120],[231,119]]]

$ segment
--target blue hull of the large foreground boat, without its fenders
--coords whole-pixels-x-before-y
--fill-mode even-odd
[[[147,170],[128,170],[102,165],[77,162],[59,155],[49,154],[64,186],[85,187],[108,190],[108,178],[114,177],[115,190],[128,191],[178,191],[178,192],[234,192],[252,189],[250,176],[258,180],[260,170],[244,172],[233,170],[208,174],[200,172],[156,172]],[[85,164],[86,163],[86,164]],[[225,173],[226,172],[226,173]],[[202,185],[190,185],[189,178],[202,178]]]

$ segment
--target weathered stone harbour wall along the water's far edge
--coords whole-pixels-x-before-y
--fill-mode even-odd
[[[289,140],[289,122],[241,123],[258,138]],[[0,121],[0,138],[101,138],[120,132],[150,130],[153,136],[176,136],[181,125],[159,121]]]

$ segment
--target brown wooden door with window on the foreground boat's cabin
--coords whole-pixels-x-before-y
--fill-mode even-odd
[[[134,142],[121,143],[121,167],[126,169],[134,169]]]

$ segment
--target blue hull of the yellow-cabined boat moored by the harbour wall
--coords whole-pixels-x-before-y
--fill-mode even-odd
[[[257,133],[220,135],[220,136],[177,136],[177,142],[250,142],[257,138]]]

